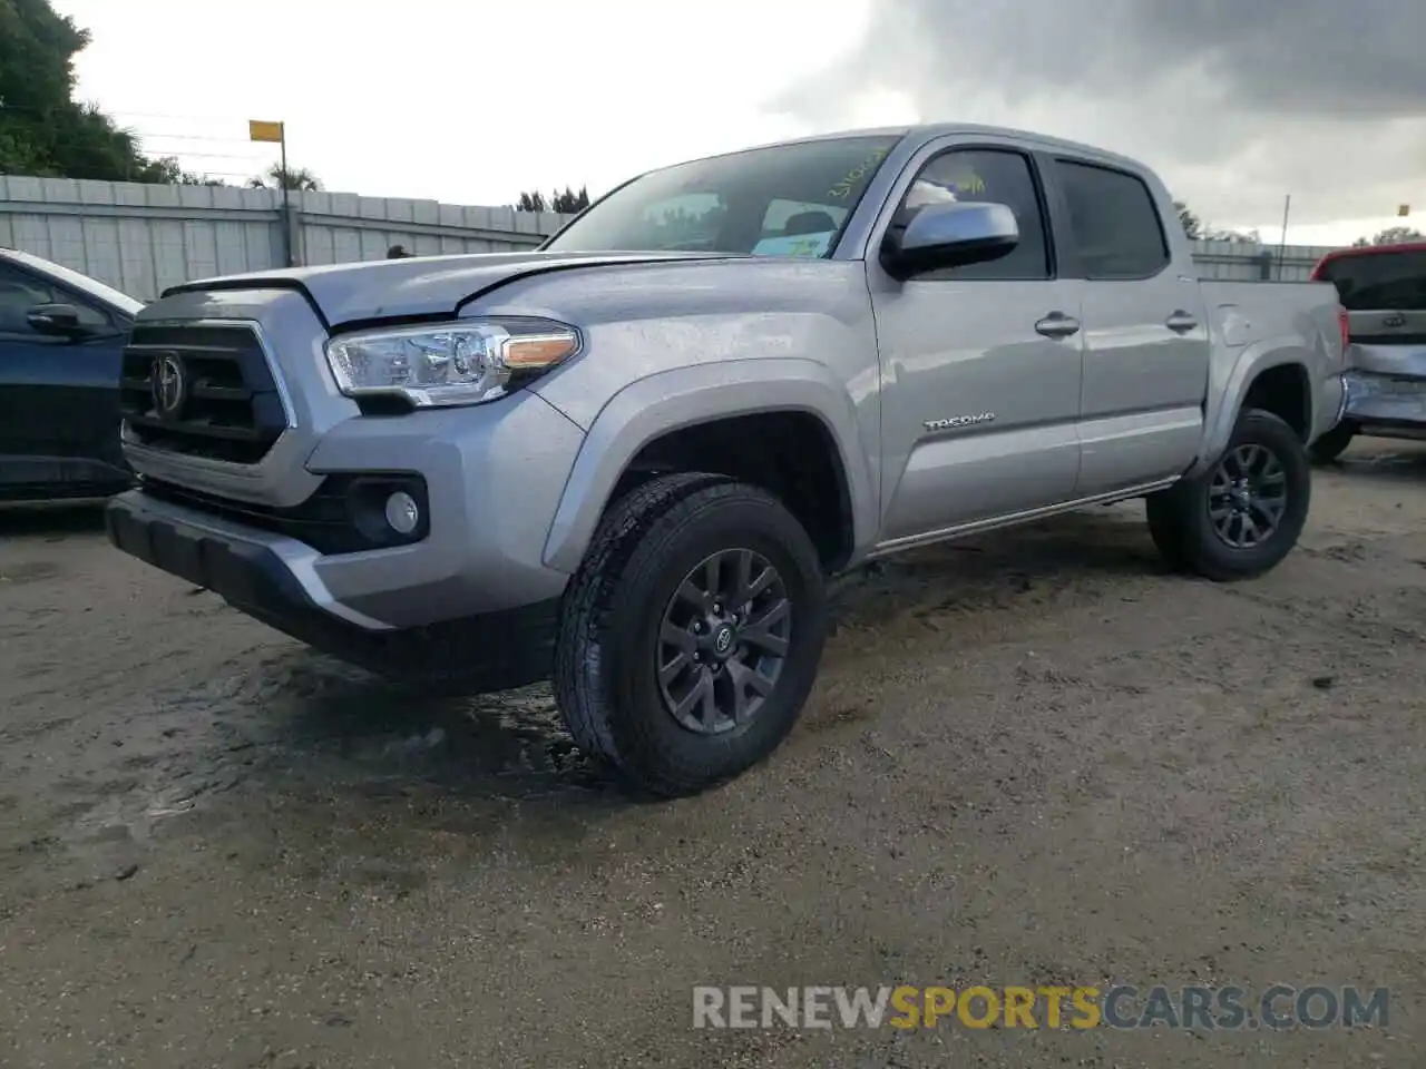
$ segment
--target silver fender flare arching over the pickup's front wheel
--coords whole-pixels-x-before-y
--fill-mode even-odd
[[[846,473],[860,554],[876,540],[880,513],[874,450],[861,440],[847,388],[821,363],[786,356],[673,368],[619,391],[575,458],[545,542],[545,564],[565,573],[579,567],[619,477],[649,442],[696,423],[777,410],[810,413],[827,428]]]

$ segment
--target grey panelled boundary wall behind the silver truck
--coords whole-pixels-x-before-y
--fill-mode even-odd
[[[533,248],[568,217],[436,201],[292,192],[289,227],[275,190],[143,185],[0,175],[0,247],[64,267],[151,301],[164,288],[208,275],[297,264],[381,259],[409,252],[506,252]],[[284,229],[287,234],[284,235]],[[1325,248],[1195,242],[1205,278],[1301,281]]]

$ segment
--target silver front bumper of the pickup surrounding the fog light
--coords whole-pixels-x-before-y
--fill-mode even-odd
[[[287,486],[298,480],[318,487],[308,486],[302,500],[311,502],[328,476],[419,476],[428,502],[425,537],[382,549],[324,553],[291,532],[261,529],[218,502],[210,507],[165,495],[158,485],[154,493],[125,495],[116,509],[150,525],[198,532],[210,542],[221,539],[244,559],[261,550],[265,560],[275,557],[307,601],[362,630],[424,627],[549,601],[563,593],[569,576],[548,567],[542,554],[582,442],[579,428],[526,392],[489,406],[337,423],[265,503],[224,493],[225,485],[205,479],[211,465],[171,470],[181,459],[175,458],[158,472],[145,470],[144,459],[135,458],[141,476],[244,507],[285,502],[291,496]],[[141,543],[116,544],[144,556],[130,549],[141,549]],[[208,586],[177,570],[183,559],[171,553],[150,563]]]

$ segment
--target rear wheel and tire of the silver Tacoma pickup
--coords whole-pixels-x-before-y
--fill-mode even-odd
[[[1248,469],[1241,469],[1245,458],[1251,458]],[[1236,476],[1249,483],[1242,492],[1228,487]],[[1302,440],[1281,418],[1249,409],[1206,472],[1148,497],[1149,534],[1178,570],[1219,583],[1252,579],[1276,567],[1298,544],[1310,502],[1312,468]],[[1251,542],[1246,520],[1266,527],[1272,510],[1278,515],[1271,533]],[[1211,512],[1222,517],[1226,530]]]

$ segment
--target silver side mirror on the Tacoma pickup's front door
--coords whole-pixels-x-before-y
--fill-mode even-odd
[[[928,204],[887,231],[881,267],[898,281],[940,268],[1000,259],[1020,244],[1015,212],[1004,204]]]

